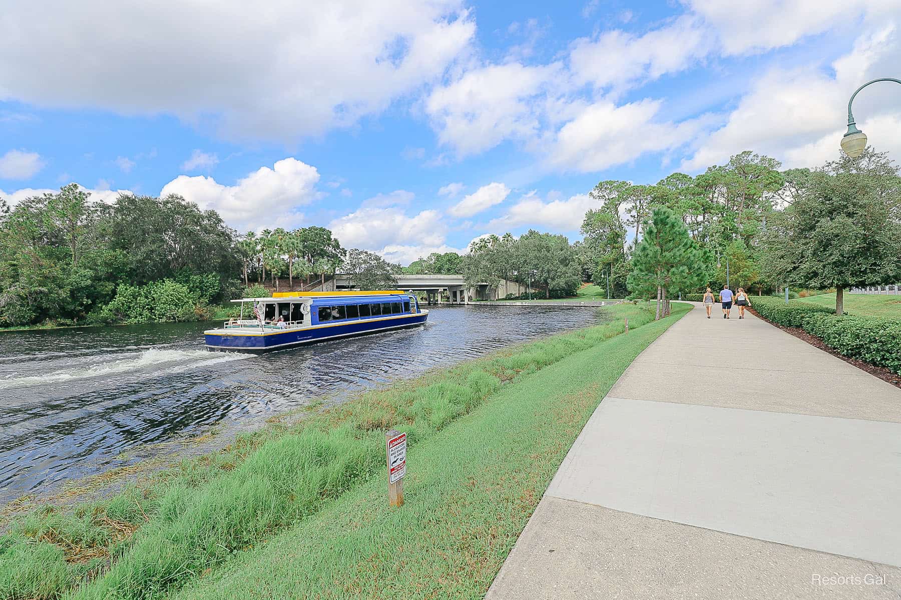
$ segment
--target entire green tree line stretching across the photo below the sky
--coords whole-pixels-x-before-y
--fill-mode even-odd
[[[396,275],[460,273],[470,285],[501,280],[546,298],[582,282],[612,297],[669,299],[729,282],[758,293],[901,280],[901,177],[869,149],[813,171],[780,171],[750,151],[692,177],[657,184],[601,181],[582,239],[529,230],[480,237],[466,255],[432,253],[407,267],[341,247],[322,227],[263,229],[239,237],[213,210],[170,195],[91,201],[77,184],[0,199],[0,327],[184,320],[260,284],[315,285],[343,270],[360,288],[396,287]],[[245,291],[246,293],[246,291]]]

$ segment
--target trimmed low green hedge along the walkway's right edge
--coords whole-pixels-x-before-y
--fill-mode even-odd
[[[808,302],[755,298],[761,317],[786,327],[803,327],[839,354],[901,374],[901,319],[836,317],[833,309]]]

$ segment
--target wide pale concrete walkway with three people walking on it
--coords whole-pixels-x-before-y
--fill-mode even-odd
[[[597,407],[488,591],[901,598],[901,390],[699,305]]]

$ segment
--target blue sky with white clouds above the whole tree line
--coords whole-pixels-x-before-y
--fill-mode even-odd
[[[209,6],[7,7],[0,197],[180,193],[241,232],[323,225],[407,264],[487,233],[578,237],[601,179],[744,149],[821,165],[851,91],[901,75],[893,0]],[[855,101],[893,154],[899,98]]]

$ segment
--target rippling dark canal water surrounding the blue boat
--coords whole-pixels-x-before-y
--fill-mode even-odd
[[[207,352],[211,323],[0,332],[0,506],[147,458],[213,425],[259,425],[505,345],[598,309],[432,307],[427,325],[269,354]]]

